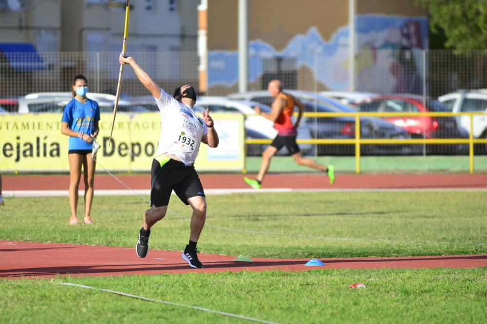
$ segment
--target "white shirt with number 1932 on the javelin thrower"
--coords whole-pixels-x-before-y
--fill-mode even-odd
[[[194,164],[201,139],[208,127],[194,110],[161,89],[161,97],[154,98],[161,111],[161,135],[155,156],[169,153],[186,165]]]

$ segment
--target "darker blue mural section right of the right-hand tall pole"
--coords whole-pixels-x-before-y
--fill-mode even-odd
[[[356,89],[379,93],[423,92],[428,19],[385,15],[357,17]]]

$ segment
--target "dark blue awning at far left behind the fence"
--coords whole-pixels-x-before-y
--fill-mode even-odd
[[[0,43],[3,53],[15,71],[45,70],[46,65],[31,43]]]

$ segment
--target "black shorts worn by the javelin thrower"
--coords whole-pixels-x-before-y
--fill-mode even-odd
[[[174,190],[182,202],[189,205],[188,198],[205,197],[200,178],[194,166],[186,166],[165,155],[152,160],[150,205],[167,206]]]

